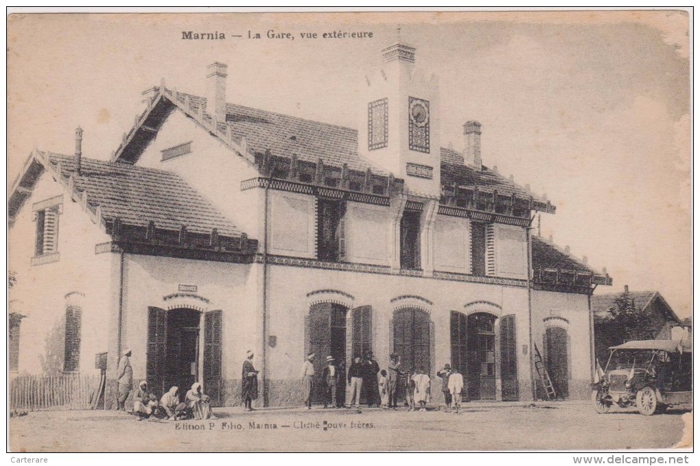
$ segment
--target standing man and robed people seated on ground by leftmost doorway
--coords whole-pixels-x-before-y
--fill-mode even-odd
[[[126,401],[134,385],[134,371],[132,370],[130,357],[132,352],[126,349],[120,358],[117,367],[117,409],[126,412]],[[139,421],[146,418],[169,419],[179,421],[181,419],[215,419],[211,412],[209,396],[202,392],[202,384],[195,382],[185,394],[185,401],[180,401],[179,387],[172,386],[167,393],[158,400],[155,393],[149,393],[148,383],[143,380],[139,388],[134,391],[134,410],[132,414]]]

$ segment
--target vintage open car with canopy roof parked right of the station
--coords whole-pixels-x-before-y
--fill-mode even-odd
[[[692,350],[675,340],[636,340],[610,347],[605,370],[596,363],[591,400],[601,414],[612,405],[636,407],[645,416],[692,405]]]

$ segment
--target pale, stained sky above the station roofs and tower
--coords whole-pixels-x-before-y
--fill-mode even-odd
[[[11,15],[9,180],[34,147],[71,154],[78,125],[83,155],[109,159],[144,109],[141,92],[165,79],[204,94],[213,61],[228,64],[229,102],[356,128],[366,109],[357,89],[397,27],[416,68],[440,80],[430,110],[443,146],[462,150],[461,125],[481,122],[484,165],[556,205],[542,235],[613,278],[596,294],[627,284],[691,313],[683,12]],[[372,38],[300,37],[332,31]]]

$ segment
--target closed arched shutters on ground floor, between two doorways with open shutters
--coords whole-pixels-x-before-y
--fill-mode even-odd
[[[430,316],[419,309],[400,309],[393,319],[394,353],[404,367],[430,374]]]

